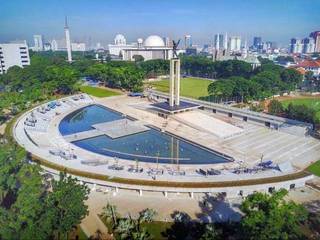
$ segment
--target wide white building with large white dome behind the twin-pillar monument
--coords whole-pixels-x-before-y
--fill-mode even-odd
[[[173,50],[171,47],[166,46],[161,37],[151,35],[144,42],[140,39],[136,46],[122,49],[123,60],[134,61],[135,56],[142,56],[144,60],[171,59]]]

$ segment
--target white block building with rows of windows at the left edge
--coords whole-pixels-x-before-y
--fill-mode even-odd
[[[30,65],[29,49],[24,43],[0,43],[0,74],[12,66]]]

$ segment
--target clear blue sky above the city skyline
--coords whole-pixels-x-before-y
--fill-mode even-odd
[[[103,45],[117,33],[129,42],[190,34],[194,44],[204,44],[225,32],[286,45],[320,30],[320,0],[1,0],[0,42],[32,45],[34,34],[62,39],[65,16],[72,40]]]

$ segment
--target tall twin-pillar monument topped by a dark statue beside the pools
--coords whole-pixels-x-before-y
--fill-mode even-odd
[[[179,41],[173,41],[173,58],[170,59],[170,107],[180,105],[180,59],[176,52]]]

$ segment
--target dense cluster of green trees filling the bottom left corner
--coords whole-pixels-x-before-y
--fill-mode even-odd
[[[66,238],[88,213],[88,193],[65,174],[45,181],[22,148],[0,146],[0,239]]]

